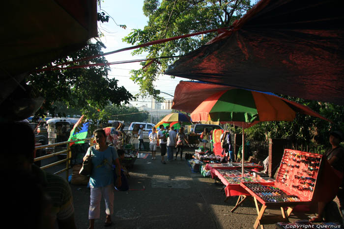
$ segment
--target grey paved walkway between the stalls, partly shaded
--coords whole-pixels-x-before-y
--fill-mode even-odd
[[[193,149],[187,148],[188,151]],[[115,192],[113,220],[116,229],[250,229],[257,217],[255,205],[248,201],[234,213],[230,209],[237,198],[227,202],[221,185],[200,173],[193,173],[185,160],[160,162],[138,158],[130,170],[130,190]],[[62,168],[62,166],[60,166]],[[51,169],[52,170],[52,169]],[[57,168],[57,171],[60,168]],[[53,171],[51,171],[53,172]],[[64,176],[61,174],[60,176]],[[89,188],[71,185],[76,224],[88,227]],[[276,213],[276,211],[268,211]],[[306,216],[304,216],[306,217]],[[293,216],[291,221],[296,218]],[[105,204],[95,228],[104,228]],[[266,225],[265,229],[275,226]]]

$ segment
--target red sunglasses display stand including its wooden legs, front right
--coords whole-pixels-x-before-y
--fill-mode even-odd
[[[260,225],[263,229],[264,224],[289,222],[288,217],[296,205],[309,204],[316,188],[321,161],[320,154],[286,149],[274,185],[261,187],[259,184],[241,183],[256,204],[258,216],[253,227],[257,229]],[[264,215],[266,208],[281,209],[282,215]]]

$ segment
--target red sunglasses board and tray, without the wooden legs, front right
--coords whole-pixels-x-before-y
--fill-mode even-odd
[[[313,198],[322,155],[285,150],[274,185],[243,182],[262,204],[309,202]]]

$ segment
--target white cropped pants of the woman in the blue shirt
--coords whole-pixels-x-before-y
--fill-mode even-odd
[[[100,218],[100,201],[102,195],[105,200],[105,213],[112,215],[114,213],[114,185],[105,187],[91,187],[91,201],[88,210],[88,219]]]

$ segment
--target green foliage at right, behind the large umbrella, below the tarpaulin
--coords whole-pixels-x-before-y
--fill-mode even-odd
[[[257,140],[286,138],[298,145],[311,143],[314,147],[324,148],[329,145],[331,131],[344,130],[344,106],[280,96],[304,104],[332,122],[296,113],[296,118],[292,122],[263,122],[248,128],[245,132],[249,138]]]

